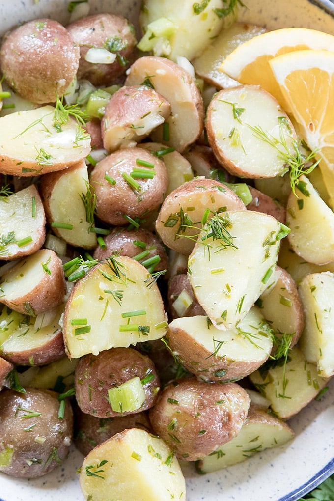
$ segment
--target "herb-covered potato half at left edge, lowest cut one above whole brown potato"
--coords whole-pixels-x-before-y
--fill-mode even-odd
[[[65,354],[59,325],[64,305],[52,310],[46,325],[37,326],[36,318],[4,308],[0,322],[0,353],[18,365],[46,365]]]

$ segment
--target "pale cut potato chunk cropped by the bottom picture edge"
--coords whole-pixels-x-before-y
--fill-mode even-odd
[[[176,457],[165,442],[131,428],[95,447],[81,467],[87,501],[185,501],[186,485]]]

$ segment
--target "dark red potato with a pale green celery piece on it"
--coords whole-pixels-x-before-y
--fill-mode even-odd
[[[111,408],[108,390],[120,386],[135,376],[140,379],[148,374],[154,378],[143,385],[146,400],[132,412],[115,412]],[[111,348],[99,355],[85,355],[79,361],[75,372],[75,391],[80,409],[97,417],[115,417],[133,414],[155,404],[160,381],[153,362],[133,348]]]

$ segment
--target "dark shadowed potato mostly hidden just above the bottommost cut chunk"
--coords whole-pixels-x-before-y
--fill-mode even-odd
[[[96,417],[75,409],[74,444],[84,456],[108,438],[130,428],[151,430],[147,412],[137,412],[126,416]]]

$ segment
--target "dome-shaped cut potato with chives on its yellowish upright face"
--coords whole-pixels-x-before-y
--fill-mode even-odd
[[[167,317],[157,285],[137,261],[119,256],[77,282],[68,299],[63,334],[70,358],[160,339]]]

